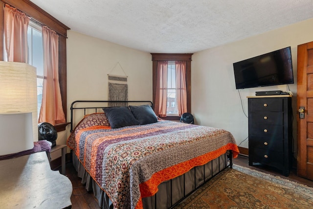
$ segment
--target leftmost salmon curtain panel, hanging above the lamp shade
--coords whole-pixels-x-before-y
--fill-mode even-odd
[[[4,42],[7,61],[28,63],[27,28],[30,17],[5,4]]]

